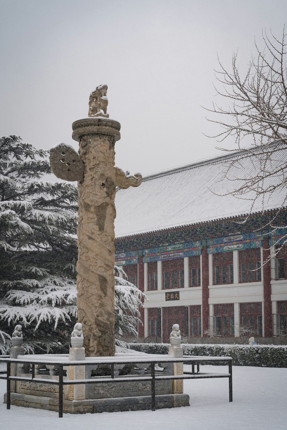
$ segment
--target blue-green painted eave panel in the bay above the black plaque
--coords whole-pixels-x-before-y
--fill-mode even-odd
[[[170,260],[172,258],[192,257],[201,255],[201,241],[188,243],[174,243],[173,245],[163,245],[158,248],[144,250],[144,263],[150,261]]]

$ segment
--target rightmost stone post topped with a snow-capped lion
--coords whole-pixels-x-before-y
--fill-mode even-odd
[[[173,331],[170,333],[170,347],[168,349],[168,355],[173,358],[183,358],[183,348],[181,346],[181,335],[178,324],[173,324]],[[173,363],[173,375],[183,375],[183,362]],[[183,380],[173,380],[173,394],[183,393]]]

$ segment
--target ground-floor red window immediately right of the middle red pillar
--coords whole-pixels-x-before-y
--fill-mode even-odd
[[[213,305],[213,330],[218,336],[234,336],[234,304]]]

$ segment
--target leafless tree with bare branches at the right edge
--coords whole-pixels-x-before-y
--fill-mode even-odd
[[[233,54],[229,72],[219,61],[216,71],[216,95],[227,108],[213,103],[217,114],[212,123],[223,130],[215,135],[219,142],[225,139],[236,144],[235,149],[217,148],[230,154],[225,160],[224,178],[231,182],[231,194],[239,199],[250,200],[249,213],[242,218],[245,223],[254,212],[258,201],[269,199],[276,202],[275,216],[268,227],[278,227],[278,213],[287,206],[287,34],[285,27],[281,39],[262,31],[264,48],[255,41],[256,56],[251,59],[246,74],[238,68],[238,52]],[[247,145],[248,147],[244,147]],[[216,193],[216,191],[214,191]],[[222,195],[220,193],[220,195]],[[224,194],[225,195],[225,194]],[[287,241],[287,235],[286,235]]]

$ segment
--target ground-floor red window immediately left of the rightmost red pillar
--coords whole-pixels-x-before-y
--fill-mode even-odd
[[[262,303],[240,304],[240,334],[262,336]]]

